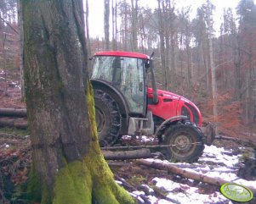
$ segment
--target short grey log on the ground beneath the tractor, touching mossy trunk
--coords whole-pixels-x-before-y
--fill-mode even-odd
[[[122,152],[111,152],[104,151],[102,153],[106,160],[125,160],[125,159],[138,159],[138,158],[149,158],[151,151],[149,149],[122,151]]]

